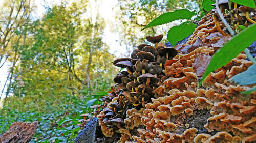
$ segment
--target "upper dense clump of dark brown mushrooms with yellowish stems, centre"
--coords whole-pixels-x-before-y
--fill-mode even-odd
[[[113,65],[127,70],[114,78],[117,89],[121,90],[121,97],[128,102],[125,103],[126,105],[144,107],[151,102],[154,96],[152,91],[163,77],[162,70],[165,62],[178,53],[174,48],[159,46],[158,43],[162,38],[163,35],[147,36],[146,39],[155,47],[140,44],[138,49],[132,52],[131,58],[120,58],[113,62]]]

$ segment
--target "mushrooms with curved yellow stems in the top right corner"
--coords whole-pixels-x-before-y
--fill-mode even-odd
[[[231,11],[228,6],[228,0],[220,0],[218,2],[221,13],[223,14],[224,18],[228,22],[229,25],[232,25],[233,30],[237,30],[239,25],[243,25],[248,27],[248,25],[256,23],[256,16],[255,16],[255,8],[250,8],[247,6],[241,6],[236,3],[231,3]],[[214,5],[215,6],[215,5]],[[229,11],[229,13],[225,13],[225,11]],[[212,13],[216,12],[216,9],[211,10]],[[224,30],[220,27],[220,18],[217,14],[213,15],[213,19],[216,23],[216,27],[218,31],[223,35],[227,35],[228,31],[226,28]]]

